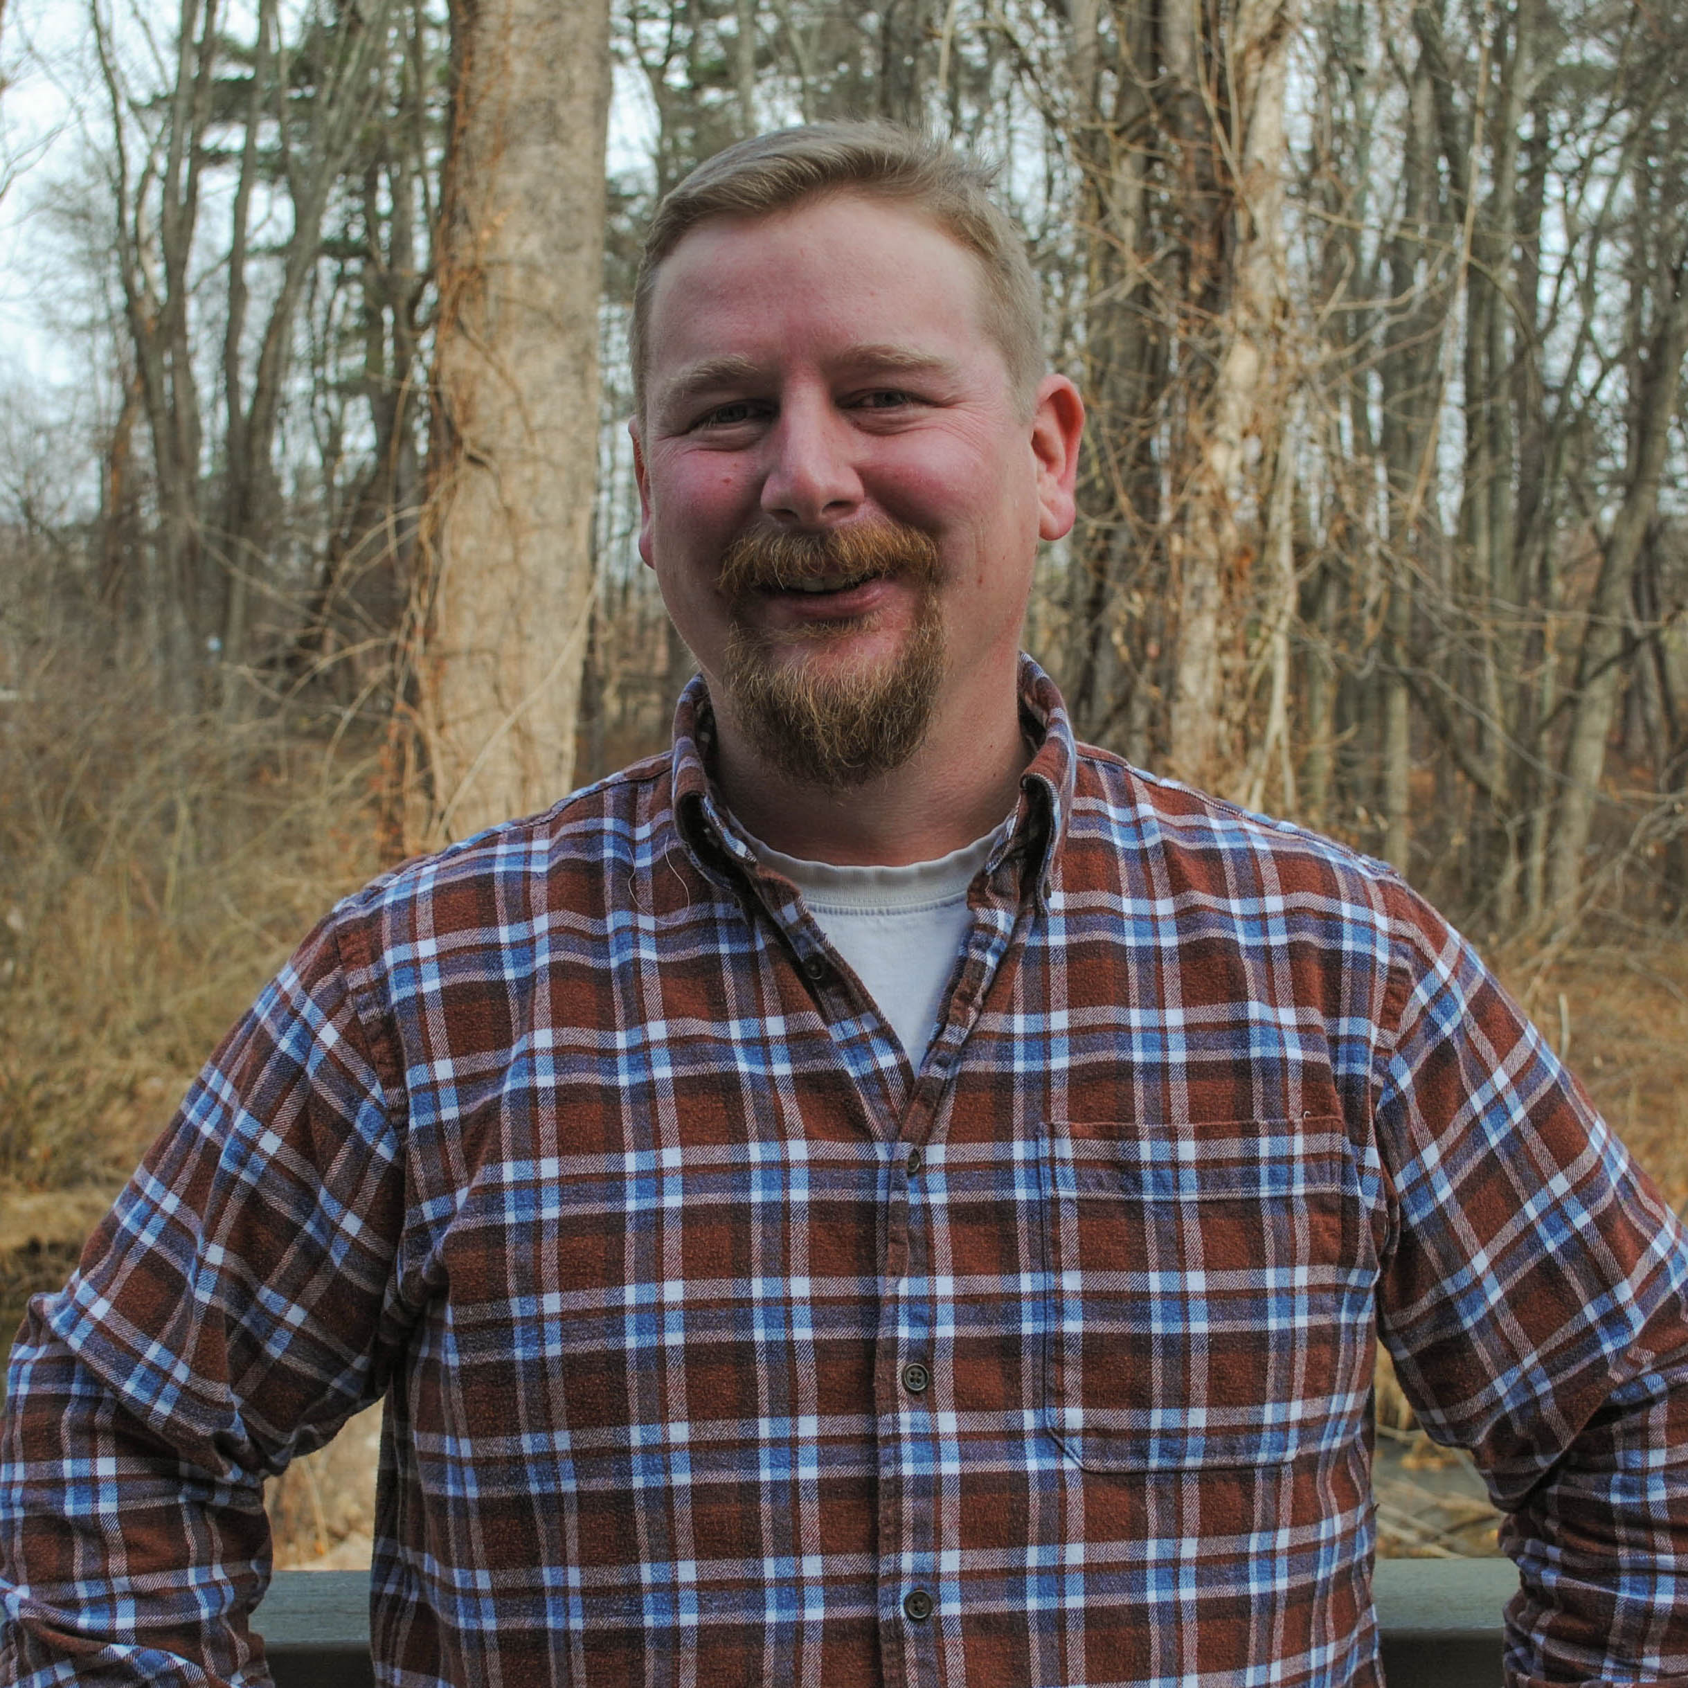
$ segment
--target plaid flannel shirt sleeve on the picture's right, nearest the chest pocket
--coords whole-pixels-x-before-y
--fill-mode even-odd
[[[1415,910],[1376,1121],[1379,1325],[1518,1561],[1506,1676],[1688,1681],[1688,1244],[1474,952]]]

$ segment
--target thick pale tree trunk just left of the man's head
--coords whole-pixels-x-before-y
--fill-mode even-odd
[[[562,797],[592,581],[604,0],[459,0],[419,677],[430,830]]]

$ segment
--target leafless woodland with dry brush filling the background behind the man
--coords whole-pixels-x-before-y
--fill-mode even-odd
[[[334,895],[665,743],[638,236],[827,116],[1001,165],[1090,412],[1079,731],[1391,861],[1688,1198],[1680,0],[27,5],[7,1323]]]

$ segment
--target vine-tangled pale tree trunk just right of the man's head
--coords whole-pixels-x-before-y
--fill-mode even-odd
[[[1283,0],[1075,7],[1070,93],[1052,108],[1079,167],[1077,343],[1096,415],[1074,706],[1104,741],[1225,787],[1258,783],[1244,717],[1259,674],[1276,674],[1280,738],[1286,722],[1293,562],[1271,525],[1293,510],[1283,101],[1295,29]],[[1273,565],[1256,574],[1264,555]],[[1254,652],[1251,619],[1273,630]]]

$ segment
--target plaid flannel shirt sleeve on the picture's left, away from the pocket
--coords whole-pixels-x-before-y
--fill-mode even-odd
[[[398,1136],[329,917],[37,1296],[0,1442],[0,1681],[267,1680],[263,1480],[381,1393]]]

